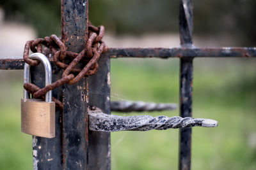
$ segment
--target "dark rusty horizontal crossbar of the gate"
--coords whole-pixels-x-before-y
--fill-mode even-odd
[[[221,47],[221,48],[109,48],[108,52],[102,54],[105,57],[122,58],[156,57],[166,59],[168,57],[256,57],[256,47]],[[49,59],[53,62],[52,59]],[[0,69],[23,69],[22,57],[0,57]]]

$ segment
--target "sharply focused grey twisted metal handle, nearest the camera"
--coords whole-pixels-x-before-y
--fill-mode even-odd
[[[116,132],[116,131],[150,131],[177,129],[182,127],[216,127],[216,120],[191,117],[151,117],[140,115],[132,117],[121,117],[118,115],[107,115],[99,109],[89,111],[89,127],[91,131]]]

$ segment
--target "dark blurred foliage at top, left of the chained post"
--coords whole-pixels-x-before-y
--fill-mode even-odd
[[[0,0],[6,20],[23,22],[35,27],[38,37],[60,35],[61,1]]]

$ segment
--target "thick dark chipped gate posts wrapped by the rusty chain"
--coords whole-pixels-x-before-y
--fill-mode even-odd
[[[61,39],[67,50],[79,53],[88,38],[88,1],[61,3]],[[52,65],[52,70],[53,81],[59,80],[61,69]],[[31,80],[44,87],[44,67],[31,67]],[[54,89],[53,96],[63,97],[63,113],[56,111],[56,138],[33,137],[34,169],[110,170],[110,133],[88,131],[88,78]],[[109,57],[100,58],[99,71],[90,77],[90,105],[110,114]]]

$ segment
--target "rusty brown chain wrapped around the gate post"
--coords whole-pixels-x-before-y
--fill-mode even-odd
[[[56,35],[51,35],[50,37],[38,38],[35,40],[30,40],[26,42],[23,59],[24,62],[31,66],[37,66],[40,64],[39,60],[29,59],[29,50],[32,52],[43,52],[44,50],[50,50],[53,53],[53,59],[56,66],[63,69],[62,78],[51,85],[47,85],[40,89],[33,83],[24,83],[24,89],[27,90],[35,98],[44,99],[44,96],[50,90],[56,89],[61,85],[67,83],[68,85],[74,85],[78,83],[84,76],[90,76],[97,73],[99,65],[97,61],[102,52],[107,52],[108,47],[102,41],[104,36],[104,26],[95,27],[90,22],[88,25],[89,38],[84,39],[85,46],[80,53],[67,51],[67,47],[64,45],[63,41]],[[69,64],[64,62],[65,59],[72,59]],[[85,66],[83,69],[77,68],[77,64],[83,62]],[[76,76],[75,74],[76,73]],[[52,97],[52,101],[56,103],[58,108],[63,109],[63,103]]]

